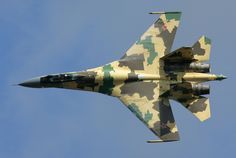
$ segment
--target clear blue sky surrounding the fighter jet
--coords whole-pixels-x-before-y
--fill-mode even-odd
[[[235,1],[1,0],[0,157],[224,157],[235,155]],[[120,58],[157,18],[182,11],[172,49],[212,39],[212,118],[200,123],[172,102],[181,141],[155,136],[112,97],[12,84],[44,74],[80,71]]]

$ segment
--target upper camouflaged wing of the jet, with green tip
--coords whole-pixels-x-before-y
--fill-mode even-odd
[[[156,64],[159,58],[170,52],[177,28],[180,21],[180,12],[159,13],[160,18],[133,44],[121,60],[141,60],[144,67],[153,66],[156,70]]]

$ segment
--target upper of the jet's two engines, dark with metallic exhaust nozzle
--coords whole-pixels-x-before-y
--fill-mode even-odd
[[[192,62],[192,63],[182,63],[182,62],[165,62],[165,71],[177,71],[177,72],[200,72],[208,73],[210,72],[210,64]]]

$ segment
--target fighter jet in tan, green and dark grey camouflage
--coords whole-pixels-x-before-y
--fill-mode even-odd
[[[187,108],[200,121],[210,117],[209,85],[223,80],[209,74],[211,40],[202,36],[192,47],[171,52],[180,12],[154,12],[159,19],[114,62],[81,72],[51,74],[19,85],[33,88],[65,88],[99,92],[119,98],[160,140],[179,140],[169,100]]]

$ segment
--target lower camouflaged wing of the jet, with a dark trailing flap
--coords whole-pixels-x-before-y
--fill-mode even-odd
[[[119,99],[162,141],[179,140],[169,100],[159,90],[158,82],[125,83]]]

